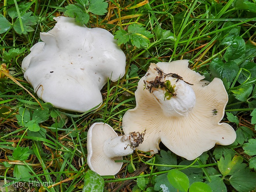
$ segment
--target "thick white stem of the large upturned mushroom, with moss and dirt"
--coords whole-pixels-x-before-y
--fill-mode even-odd
[[[187,116],[196,103],[191,83],[178,74],[164,73],[156,64],[149,66],[144,83],[166,116]]]

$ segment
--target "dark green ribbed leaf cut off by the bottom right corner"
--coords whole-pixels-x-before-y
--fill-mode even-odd
[[[241,168],[232,174],[229,182],[238,192],[250,192],[256,187],[256,173],[248,167]]]

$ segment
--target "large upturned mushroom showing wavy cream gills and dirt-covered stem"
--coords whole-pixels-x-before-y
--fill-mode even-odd
[[[222,81],[211,83],[188,68],[187,60],[152,64],[138,83],[136,107],[123,116],[123,131],[142,132],[141,151],[157,153],[159,143],[188,160],[214,145],[230,145],[235,130],[220,123],[228,94]]]

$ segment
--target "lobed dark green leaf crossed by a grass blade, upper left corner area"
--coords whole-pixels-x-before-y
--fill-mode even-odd
[[[32,12],[27,12],[24,15],[21,16],[21,21],[24,27],[24,31],[21,30],[21,25],[20,22],[17,21],[13,28],[14,30],[21,34],[26,34],[27,32],[31,32],[34,31],[34,29],[31,27],[33,25],[36,25],[37,21],[38,21],[38,17],[36,16],[31,16]]]

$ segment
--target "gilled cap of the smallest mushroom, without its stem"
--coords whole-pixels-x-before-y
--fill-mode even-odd
[[[117,133],[106,123],[93,123],[87,133],[87,164],[99,175],[116,175],[123,163],[115,162],[123,157],[109,158],[104,152],[104,144],[109,138],[117,137]]]

